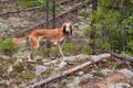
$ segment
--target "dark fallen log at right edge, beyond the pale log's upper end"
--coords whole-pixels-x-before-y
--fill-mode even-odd
[[[110,54],[111,54],[111,56],[113,56],[115,58],[119,58],[119,59],[122,59],[122,61],[129,61],[129,62],[133,63],[133,57],[131,57],[131,56],[124,56],[122,54],[116,54],[116,53],[113,53],[113,52],[111,52]]]

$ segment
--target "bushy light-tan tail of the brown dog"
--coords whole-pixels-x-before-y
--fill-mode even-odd
[[[27,44],[27,41],[29,40],[29,35],[25,35],[23,37],[13,37],[12,43],[16,45],[24,45]]]

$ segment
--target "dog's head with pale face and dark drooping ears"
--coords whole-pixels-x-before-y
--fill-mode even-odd
[[[70,22],[65,22],[62,24],[64,35],[72,35],[73,25]]]

